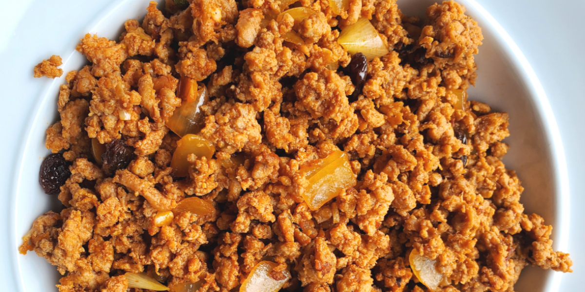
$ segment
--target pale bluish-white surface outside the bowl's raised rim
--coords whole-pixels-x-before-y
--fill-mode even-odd
[[[538,75],[559,126],[569,169],[569,250],[572,274],[559,291],[582,291],[585,279],[585,1],[477,0],[510,34]],[[0,283],[14,290],[8,253],[8,215],[16,154],[33,103],[50,79],[32,79],[32,68],[51,54],[70,51],[92,16],[111,1],[0,0]],[[46,13],[50,11],[51,13]],[[39,17],[42,15],[42,17]],[[46,41],[47,36],[51,41]],[[18,37],[18,40],[17,40]],[[480,48],[481,50],[481,48]],[[23,53],[24,52],[24,53]],[[26,54],[25,54],[26,53]],[[66,56],[62,56],[66,57]],[[481,70],[481,68],[480,68]],[[34,202],[31,202],[34,203]],[[568,210],[567,210],[568,211]],[[3,267],[2,267],[3,266]],[[6,286],[8,284],[8,286]]]

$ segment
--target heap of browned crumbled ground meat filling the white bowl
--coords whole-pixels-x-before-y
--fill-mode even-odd
[[[244,291],[263,261],[264,280],[305,292],[512,291],[528,264],[571,272],[501,162],[508,114],[467,100],[480,27],[453,1],[424,23],[395,2],[166,0],[118,41],[87,34],[91,64],[67,74],[46,132],[70,170],[50,180],[63,210],[20,252],[57,266],[60,292],[142,291],[125,273]],[[360,54],[358,85],[337,40],[359,18],[388,53]],[[188,123],[198,136],[179,137]]]

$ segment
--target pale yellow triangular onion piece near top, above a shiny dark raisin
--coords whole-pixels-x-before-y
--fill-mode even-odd
[[[345,27],[337,42],[352,55],[364,54],[368,61],[388,54],[384,41],[367,18],[360,18],[355,24]]]

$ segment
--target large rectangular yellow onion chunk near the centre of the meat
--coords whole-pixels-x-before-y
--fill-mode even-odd
[[[309,182],[302,198],[311,210],[317,210],[344,189],[356,185],[349,158],[340,150],[303,166],[300,171],[305,173]]]

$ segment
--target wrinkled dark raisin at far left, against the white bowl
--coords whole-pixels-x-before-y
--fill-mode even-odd
[[[44,158],[40,165],[39,183],[46,194],[59,194],[61,186],[71,176],[70,163],[59,153],[51,154]]]

